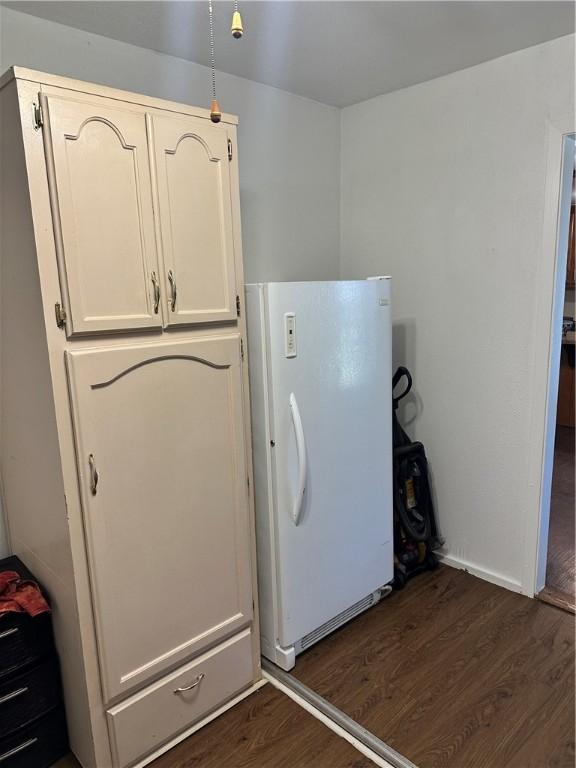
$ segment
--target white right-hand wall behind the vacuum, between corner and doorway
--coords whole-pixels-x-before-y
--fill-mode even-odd
[[[573,60],[564,37],[342,112],[341,276],[393,276],[395,362],[414,374],[410,429],[446,551],[526,592],[554,264],[548,121],[573,116]]]

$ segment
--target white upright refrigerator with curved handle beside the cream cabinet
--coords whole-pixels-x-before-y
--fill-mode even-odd
[[[393,578],[390,287],[246,286],[262,653],[285,670]]]

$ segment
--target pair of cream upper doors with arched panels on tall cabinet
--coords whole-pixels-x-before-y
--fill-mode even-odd
[[[40,101],[69,336],[235,320],[228,127],[63,89]]]

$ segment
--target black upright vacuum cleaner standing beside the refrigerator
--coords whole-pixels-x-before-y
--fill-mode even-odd
[[[406,386],[395,397],[394,390],[402,379],[406,379]],[[441,545],[424,446],[413,442],[398,421],[398,404],[411,389],[410,371],[401,366],[392,378],[394,589],[402,589],[417,573],[437,568],[434,550]]]

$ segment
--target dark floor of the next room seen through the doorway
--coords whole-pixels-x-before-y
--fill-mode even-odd
[[[557,427],[546,589],[540,597],[572,611],[576,608],[574,517],[574,429]]]

